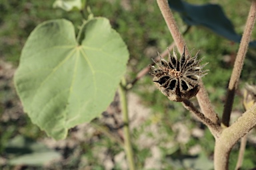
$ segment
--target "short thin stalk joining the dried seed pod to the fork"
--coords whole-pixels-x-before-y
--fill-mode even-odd
[[[183,106],[189,110],[192,114],[194,114],[203,124],[205,124],[213,134],[215,138],[219,137],[221,133],[221,127],[219,124],[215,124],[209,118],[206,118],[189,100],[183,100]]]

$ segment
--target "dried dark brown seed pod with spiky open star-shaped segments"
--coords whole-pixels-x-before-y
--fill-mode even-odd
[[[185,56],[184,52],[181,57],[177,58],[175,49],[173,48],[173,54],[169,52],[168,61],[161,58],[160,54],[159,62],[155,62],[155,66],[150,66],[152,74],[154,76],[153,82],[157,85],[157,88],[169,98],[175,102],[182,102],[184,99],[192,98],[197,94],[200,89],[199,79],[207,74],[208,70],[202,68],[207,64],[199,65],[199,62],[203,60],[197,60],[198,52],[194,57],[191,57],[191,53]]]

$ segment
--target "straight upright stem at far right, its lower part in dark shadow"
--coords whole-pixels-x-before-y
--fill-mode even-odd
[[[249,15],[247,17],[245,31],[243,32],[243,37],[239,45],[237,57],[235,59],[234,68],[229,81],[229,88],[227,90],[227,99],[225,102],[225,107],[224,107],[223,116],[222,116],[222,124],[225,127],[229,126],[229,120],[230,120],[231,110],[233,106],[235,90],[237,89],[237,84],[239,82],[239,77],[241,75],[241,70],[243,68],[243,61],[245,60],[245,54],[247,52],[247,48],[251,38],[251,33],[253,32],[253,26],[255,24],[255,16],[256,16],[256,1],[253,0],[251,3]]]

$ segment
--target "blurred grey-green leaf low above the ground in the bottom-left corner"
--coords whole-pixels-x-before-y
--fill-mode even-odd
[[[11,165],[43,165],[53,161],[53,159],[61,158],[61,154],[57,151],[21,135],[9,141],[5,148],[5,154],[7,157],[15,156],[8,161]]]

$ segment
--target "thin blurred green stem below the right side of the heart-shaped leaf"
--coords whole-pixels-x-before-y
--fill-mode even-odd
[[[130,170],[135,170],[135,163],[133,157],[133,148],[131,146],[131,136],[129,131],[129,116],[127,108],[127,91],[125,90],[125,79],[123,78],[121,84],[119,84],[119,95],[121,100],[121,108],[123,114],[123,137],[124,137],[124,147],[127,156],[128,166]]]

